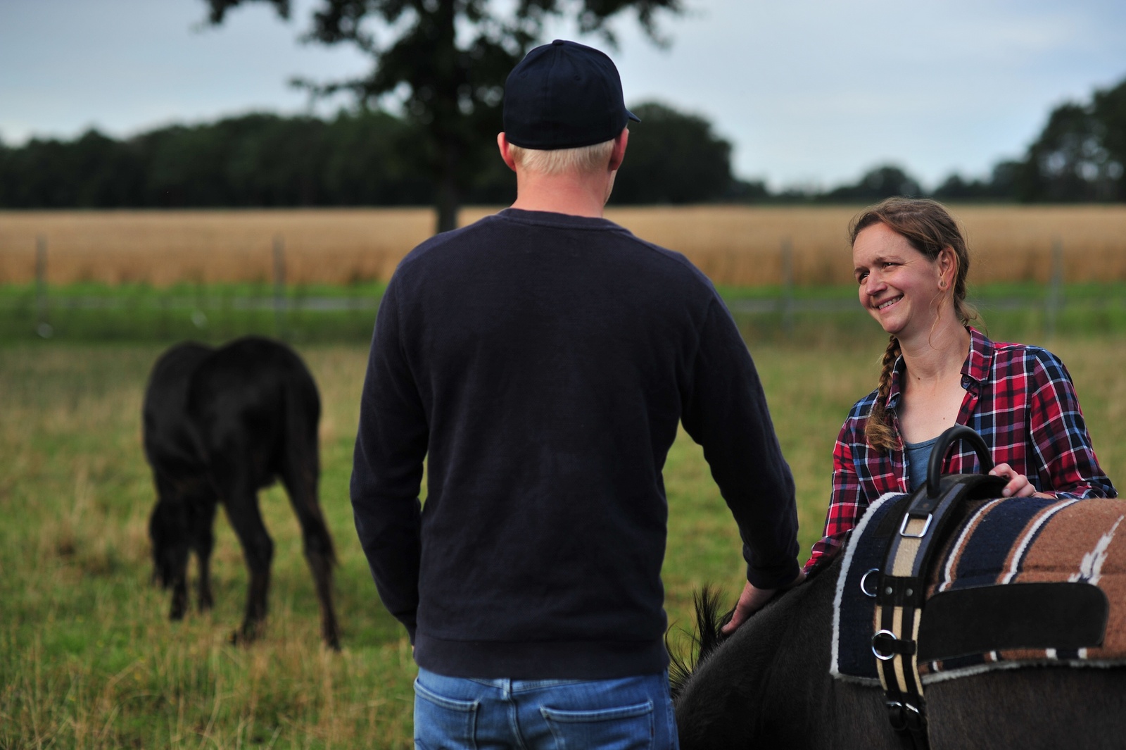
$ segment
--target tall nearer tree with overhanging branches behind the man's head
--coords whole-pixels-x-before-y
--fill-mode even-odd
[[[248,2],[268,2],[288,19],[289,0],[205,0],[208,20]],[[582,33],[614,44],[607,21],[633,10],[645,34],[661,43],[660,11],[681,12],[681,0],[320,0],[303,39],[350,44],[372,60],[361,78],[298,86],[313,96],[350,91],[378,104],[405,91],[404,114],[415,125],[436,189],[438,231],[454,229],[461,196],[485,158],[493,158],[504,79],[540,38],[549,17],[573,15]]]

